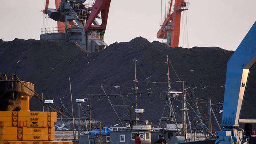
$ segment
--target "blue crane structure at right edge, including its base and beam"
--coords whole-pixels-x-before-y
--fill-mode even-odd
[[[228,61],[221,126],[215,144],[243,144],[243,130],[239,123],[255,123],[256,120],[239,119],[250,68],[256,62],[256,22]]]

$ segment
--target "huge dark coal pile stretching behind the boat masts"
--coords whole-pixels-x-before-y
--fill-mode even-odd
[[[213,103],[222,103],[226,76],[226,63],[233,51],[217,47],[193,47],[193,48],[169,48],[158,41],[148,42],[147,39],[137,37],[130,42],[115,42],[106,50],[88,54],[78,44],[60,41],[39,41],[15,39],[10,42],[0,40],[0,73],[17,74],[19,79],[35,84],[37,93],[43,93],[46,99],[53,99],[58,106],[59,98],[70,109],[69,78],[71,79],[73,101],[76,98],[88,97],[91,93],[92,117],[102,121],[103,125],[118,124],[117,116],[113,112],[104,91],[109,95],[113,105],[130,105],[135,101],[134,88],[134,58],[137,65],[138,107],[145,113],[139,114],[140,120],[148,119],[152,124],[158,124],[165,107],[166,94],[166,55],[172,63],[170,65],[171,81],[186,81],[188,88],[187,100],[195,108],[191,89],[200,99],[212,98]],[[174,70],[175,72],[174,72]],[[176,76],[177,74],[177,76]],[[254,111],[248,111],[247,107],[253,107],[255,100],[256,73],[255,66],[251,69],[248,87],[241,118],[250,118]],[[150,82],[148,82],[150,81]],[[157,83],[155,83],[157,82]],[[104,88],[102,89],[102,85]],[[172,90],[182,89],[180,83],[172,83]],[[103,91],[104,90],[104,91]],[[150,93],[158,92],[158,93]],[[111,96],[111,94],[124,94]],[[101,96],[99,96],[101,95]],[[180,100],[180,96],[178,100]],[[181,117],[181,104],[173,101],[176,113]],[[77,115],[77,104],[74,104],[74,112]],[[83,105],[87,114],[88,103]],[[207,116],[207,103],[200,103]],[[31,110],[42,110],[42,104],[37,98],[32,98]],[[214,106],[213,109],[217,109]],[[129,120],[127,111],[130,107],[115,107],[121,120]],[[189,117],[194,120],[195,114],[188,106]],[[221,122],[223,108],[215,111]],[[167,107],[165,109],[167,114]],[[88,115],[87,115],[88,116]],[[197,118],[196,118],[197,119]],[[166,120],[166,118],[165,118]],[[181,121],[177,116],[177,120]],[[198,119],[197,119],[198,120]],[[204,119],[206,120],[206,119]],[[205,121],[207,122],[207,121]],[[141,122],[143,123],[143,122]],[[125,122],[123,122],[125,124]],[[121,126],[121,124],[119,124]]]

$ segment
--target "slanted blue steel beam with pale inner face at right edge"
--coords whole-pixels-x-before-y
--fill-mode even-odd
[[[224,127],[239,126],[250,68],[256,62],[256,22],[228,61],[222,124]]]

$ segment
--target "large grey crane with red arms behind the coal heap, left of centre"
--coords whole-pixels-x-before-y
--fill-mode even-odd
[[[58,28],[43,28],[41,40],[75,41],[88,52],[104,50],[104,33],[108,21],[111,0],[55,0],[56,9],[50,9],[49,0],[45,1],[43,13],[57,21]],[[101,19],[101,24],[97,21]]]

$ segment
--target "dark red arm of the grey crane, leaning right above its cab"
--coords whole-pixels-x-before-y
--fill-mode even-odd
[[[96,0],[93,5],[93,10],[85,24],[85,30],[96,29],[96,30],[106,30],[108,21],[108,11],[111,0]],[[101,12],[102,23],[99,26],[92,25],[95,18]]]

